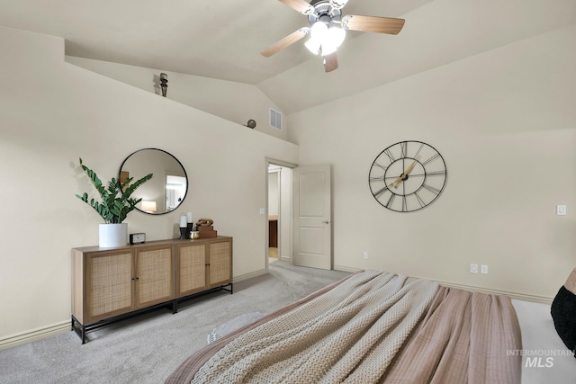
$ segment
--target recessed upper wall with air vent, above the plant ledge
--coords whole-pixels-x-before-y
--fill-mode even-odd
[[[273,103],[256,85],[236,83],[209,77],[185,75],[161,69],[127,66],[89,58],[66,57],[67,62],[78,67],[108,76],[122,83],[161,94],[160,73],[168,75],[166,98],[184,103],[204,112],[234,121],[242,126],[252,119],[257,121],[255,130],[275,138],[287,138],[288,120],[283,115],[283,129],[275,129],[269,124],[269,109],[280,108]]]

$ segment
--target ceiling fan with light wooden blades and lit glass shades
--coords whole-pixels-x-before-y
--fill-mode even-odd
[[[310,4],[304,0],[279,1],[308,16],[308,22],[311,26],[303,27],[284,39],[276,41],[260,52],[261,55],[269,58],[310,34],[311,39],[306,42],[306,48],[315,55],[320,53],[326,72],[338,68],[336,50],[344,41],[347,30],[396,35],[404,26],[404,19],[392,17],[357,16],[355,14],[347,14],[342,17],[342,8],[348,0],[312,0]]]

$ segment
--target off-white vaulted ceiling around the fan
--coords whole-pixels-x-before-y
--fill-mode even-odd
[[[260,55],[309,26],[277,0],[0,0],[0,25],[60,36],[69,56],[257,85],[285,113],[563,28],[576,2],[350,0],[343,14],[406,24],[397,36],[348,31],[325,73],[303,40]]]

